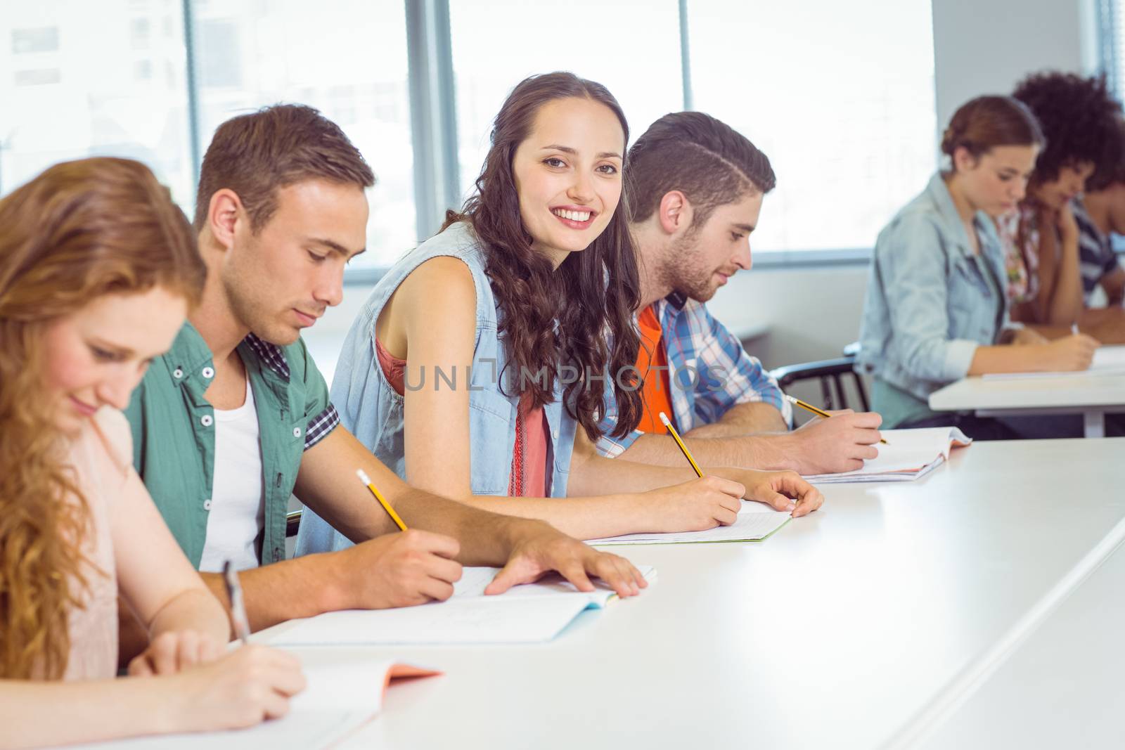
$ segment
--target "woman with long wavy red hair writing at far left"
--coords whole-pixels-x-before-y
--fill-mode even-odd
[[[0,747],[285,713],[299,665],[223,656],[226,615],[133,471],[120,413],[199,299],[187,219],[144,165],[89,159],[0,200]],[[127,679],[118,594],[152,638]]]

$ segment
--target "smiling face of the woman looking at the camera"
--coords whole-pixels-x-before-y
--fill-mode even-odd
[[[539,108],[512,173],[532,247],[558,266],[609,225],[621,200],[624,130],[613,110],[567,98]]]

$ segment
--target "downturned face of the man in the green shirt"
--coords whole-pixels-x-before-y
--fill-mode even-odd
[[[235,317],[266,341],[297,341],[343,299],[344,265],[367,244],[362,188],[325,180],[277,191],[277,211],[258,233],[240,210],[220,270]]]

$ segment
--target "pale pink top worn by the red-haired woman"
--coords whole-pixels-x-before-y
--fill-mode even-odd
[[[64,679],[98,679],[117,675],[117,567],[114,562],[112,514],[133,466],[128,422],[117,409],[101,408],[71,443],[70,463],[90,508],[83,553],[82,607],[71,611],[70,656]]]

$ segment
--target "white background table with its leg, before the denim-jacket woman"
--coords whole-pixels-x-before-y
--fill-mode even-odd
[[[1125,374],[964,378],[930,394],[929,408],[982,417],[1081,414],[1086,436],[1102,437],[1106,414],[1125,412]]]

